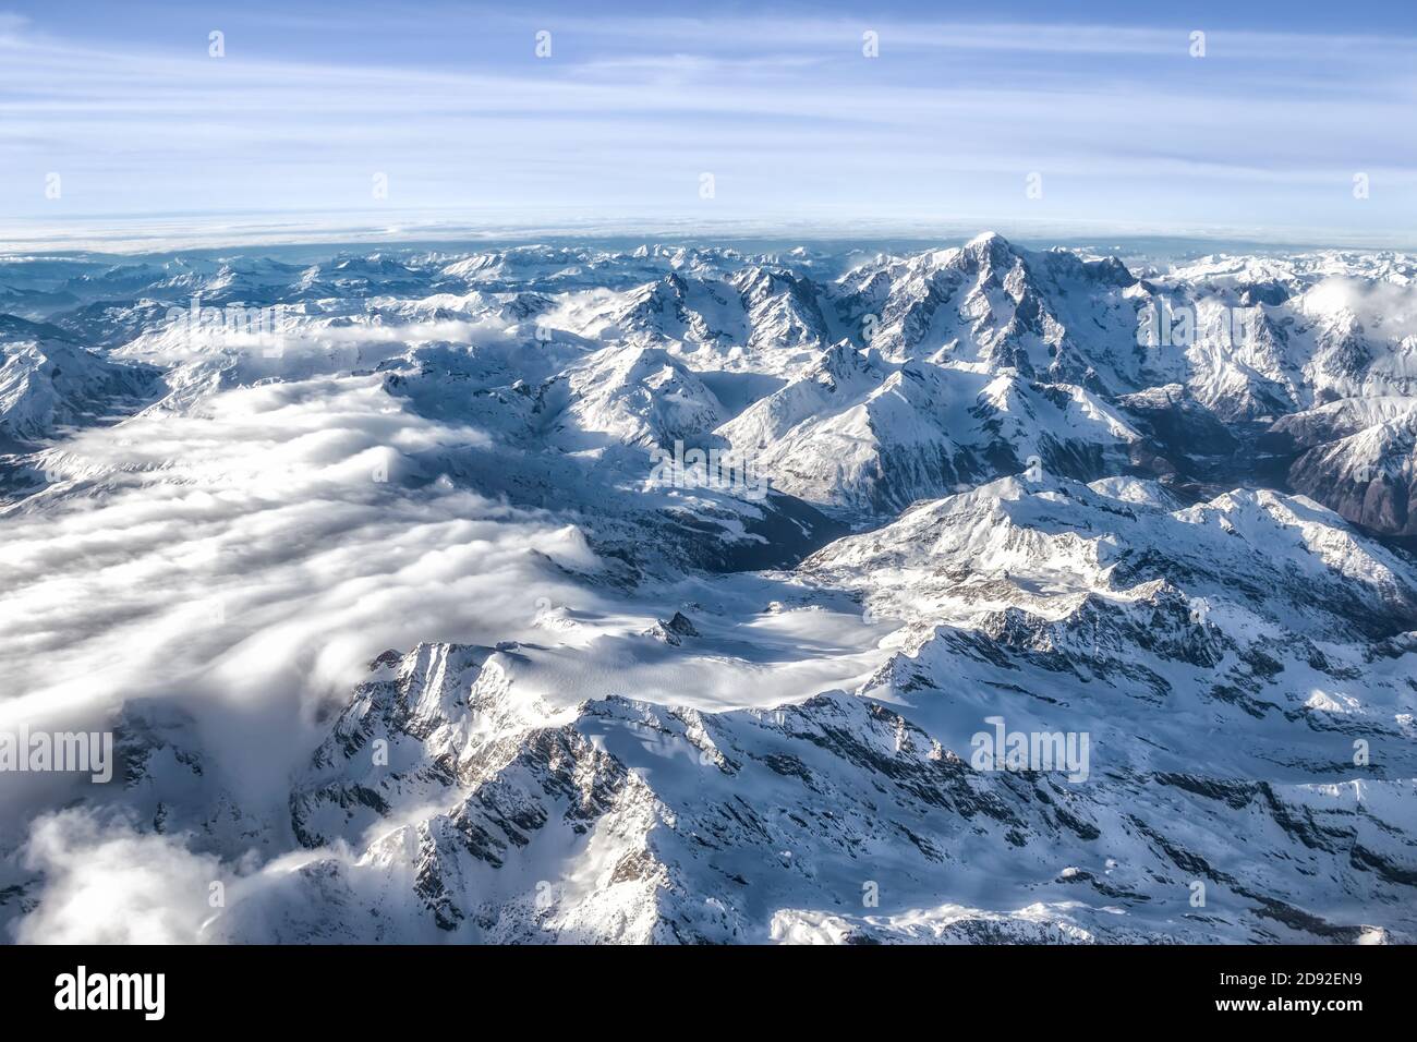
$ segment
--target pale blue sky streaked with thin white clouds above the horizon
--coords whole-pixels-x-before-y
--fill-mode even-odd
[[[1417,245],[1413,9],[0,0],[0,213]]]

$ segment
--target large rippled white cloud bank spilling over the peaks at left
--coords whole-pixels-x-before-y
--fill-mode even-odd
[[[517,637],[563,595],[558,566],[598,563],[577,529],[415,458],[483,441],[377,377],[324,376],[64,442],[57,483],[4,517],[0,726],[174,699],[220,760],[283,774],[315,700],[373,655]]]

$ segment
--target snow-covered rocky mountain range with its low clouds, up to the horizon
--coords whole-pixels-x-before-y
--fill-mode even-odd
[[[1417,940],[1414,257],[11,257],[0,352],[0,730],[118,756],[10,939]]]

